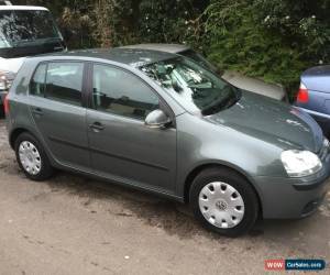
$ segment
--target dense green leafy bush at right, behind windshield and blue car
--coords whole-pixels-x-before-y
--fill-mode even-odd
[[[329,62],[329,1],[317,2],[324,6],[314,10],[310,1],[212,1],[204,12],[204,50],[221,68],[283,84],[293,94],[302,70]]]

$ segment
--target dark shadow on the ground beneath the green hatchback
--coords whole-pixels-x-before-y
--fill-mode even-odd
[[[178,235],[180,239],[190,239],[201,234],[213,240],[223,238],[202,229],[194,219],[187,205],[155,195],[65,172],[58,172],[53,179],[47,182],[47,185],[54,191],[65,191],[84,198],[81,205],[87,209],[96,200],[111,200],[119,204],[124,210],[113,212],[108,209],[109,215],[136,217],[144,223],[163,229],[166,233]],[[300,220],[258,220],[243,238],[262,238],[274,241],[294,239],[297,238],[297,234],[305,234],[305,231],[315,226],[317,216],[319,213]]]

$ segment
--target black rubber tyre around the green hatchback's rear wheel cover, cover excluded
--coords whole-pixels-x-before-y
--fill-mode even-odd
[[[41,167],[40,173],[36,175],[31,175],[30,173],[28,173],[21,163],[20,155],[19,155],[19,148],[20,148],[21,143],[24,141],[31,142],[37,148],[37,151],[40,153],[42,167]],[[15,148],[16,161],[20,165],[20,168],[24,172],[24,174],[26,175],[28,178],[30,178],[32,180],[36,180],[36,182],[42,182],[42,180],[50,178],[53,175],[53,168],[51,166],[51,163],[48,161],[48,157],[47,157],[43,146],[37,141],[37,139],[34,138],[32,134],[30,134],[30,133],[20,134],[19,138],[15,140],[14,148]]]

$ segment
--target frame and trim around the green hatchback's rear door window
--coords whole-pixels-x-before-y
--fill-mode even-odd
[[[80,100],[80,106],[79,105],[73,105],[73,103],[68,103],[68,102],[63,102],[63,101],[59,101],[59,100],[54,100],[52,98],[47,98],[46,94],[46,87],[47,87],[47,72],[48,72],[48,65],[53,64],[53,63],[79,63],[79,64],[82,64],[82,78],[81,78],[81,100]],[[43,96],[36,96],[36,95],[33,95],[31,94],[31,86],[32,86],[32,81],[33,81],[33,78],[36,74],[36,70],[38,69],[40,66],[42,65],[46,65],[46,72],[45,72],[45,79],[44,79],[44,94]],[[44,98],[44,99],[47,99],[47,100],[51,100],[51,101],[56,101],[58,103],[63,103],[63,105],[68,105],[68,106],[74,106],[74,107],[77,107],[77,108],[87,108],[88,106],[88,102],[87,102],[87,98],[88,98],[88,82],[87,82],[87,78],[88,78],[88,62],[86,61],[77,61],[77,59],[51,59],[51,61],[43,61],[43,62],[40,62],[33,73],[32,73],[32,76],[30,78],[30,82],[29,82],[29,90],[28,90],[28,96],[29,97],[36,97],[36,98]]]

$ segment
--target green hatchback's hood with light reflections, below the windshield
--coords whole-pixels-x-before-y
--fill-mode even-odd
[[[253,92],[242,91],[231,108],[207,118],[212,123],[272,142],[284,150],[298,148],[318,153],[323,133],[306,112]]]

